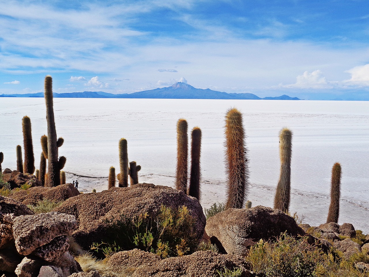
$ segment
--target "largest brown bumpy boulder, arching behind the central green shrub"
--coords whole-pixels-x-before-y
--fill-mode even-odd
[[[128,188],[113,187],[102,192],[81,194],[67,199],[54,211],[76,217],[79,228],[73,237],[83,249],[88,250],[93,242],[101,242],[105,238],[109,228],[107,219],[121,213],[128,218],[142,214],[156,216],[162,205],[174,209],[186,206],[196,222],[192,232],[201,239],[206,218],[199,201],[182,191],[160,185],[137,184]]]

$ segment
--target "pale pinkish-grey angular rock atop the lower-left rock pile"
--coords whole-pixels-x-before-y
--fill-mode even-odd
[[[15,247],[20,254],[28,255],[55,237],[70,235],[76,228],[75,217],[63,213],[18,216],[13,225]]]

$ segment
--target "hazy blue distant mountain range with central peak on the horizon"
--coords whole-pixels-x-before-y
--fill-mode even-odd
[[[252,93],[227,93],[211,89],[197,89],[186,83],[178,82],[166,88],[144,90],[134,93],[113,94],[102,91],[84,91],[71,93],[53,93],[54,98],[155,98],[155,99],[263,99],[263,100],[301,100],[297,97],[282,95],[260,98]],[[43,92],[26,94],[1,94],[0,97],[44,97]]]

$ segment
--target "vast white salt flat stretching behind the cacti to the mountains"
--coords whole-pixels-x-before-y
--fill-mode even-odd
[[[202,130],[203,207],[225,200],[224,115],[237,107],[244,114],[250,160],[249,200],[273,206],[279,178],[278,132],[293,131],[290,212],[304,214],[304,223],[327,218],[332,165],[342,165],[339,224],[353,223],[369,232],[369,102],[187,100],[187,99],[54,99],[58,136],[65,139],[59,155],[67,157],[67,180],[79,189],[107,187],[110,166],[119,170],[118,141],[128,141],[128,157],[142,170],[140,182],[174,186],[176,122],[185,118],[189,132]],[[44,99],[0,98],[2,168],[16,166],[15,146],[23,145],[21,119],[28,115],[36,168],[47,133]],[[75,175],[73,175],[75,174]],[[81,175],[81,176],[80,176]],[[85,176],[85,177],[83,177]]]

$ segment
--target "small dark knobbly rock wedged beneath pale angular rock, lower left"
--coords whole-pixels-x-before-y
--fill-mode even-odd
[[[55,237],[51,242],[36,248],[33,255],[45,261],[54,261],[58,259],[69,248],[67,236]]]

